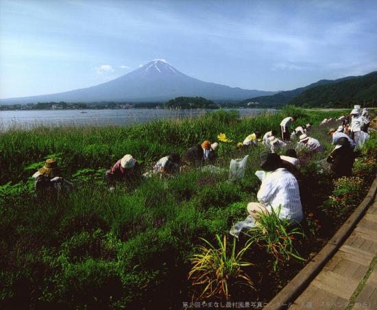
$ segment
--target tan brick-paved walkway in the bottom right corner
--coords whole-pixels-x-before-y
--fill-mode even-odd
[[[377,309],[377,200],[289,309]]]

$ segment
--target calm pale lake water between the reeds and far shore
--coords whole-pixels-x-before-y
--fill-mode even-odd
[[[228,109],[226,109],[228,110]],[[229,109],[230,110],[230,109]],[[274,113],[273,109],[237,109],[241,117],[253,117],[263,112]],[[105,126],[133,125],[156,119],[183,119],[195,117],[214,110],[164,110],[164,109],[129,109],[129,110],[16,110],[0,111],[0,128],[12,126],[31,128],[45,126]],[[84,112],[84,113],[82,113]]]

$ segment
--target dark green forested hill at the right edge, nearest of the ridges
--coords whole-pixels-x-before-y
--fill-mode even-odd
[[[377,71],[315,86],[289,100],[295,106],[326,108],[345,108],[356,102],[377,102]]]

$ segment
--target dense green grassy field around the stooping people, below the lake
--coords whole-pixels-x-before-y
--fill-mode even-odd
[[[0,184],[8,185],[0,187],[1,303],[39,309],[182,307],[193,295],[187,281],[188,258],[197,251],[199,237],[213,240],[217,234],[228,234],[232,223],[247,215],[247,202],[256,200],[259,183],[254,172],[264,148],[240,150],[236,142],[255,131],[278,130],[281,119],[293,113],[299,116],[297,124],[318,124],[325,117],[341,115],[286,108],[276,115],[239,119],[236,112],[219,111],[197,119],[134,127],[37,127],[4,132],[0,136]],[[326,135],[329,126],[311,132],[326,151],[313,158],[306,156],[302,170],[313,189],[305,205],[306,214],[315,215],[310,216],[315,235],[312,252],[336,229],[335,219],[342,220],[318,208],[335,189],[332,180],[317,174],[313,164],[332,150]],[[170,152],[183,154],[205,139],[216,141],[221,132],[233,141],[220,143],[215,165],[226,168],[223,172],[192,169],[171,179],[140,180],[114,192],[104,184],[102,172],[124,154],[132,154],[147,170]],[[250,154],[245,178],[226,182],[230,158],[245,154]],[[46,156],[60,158],[64,176],[78,184],[73,193],[58,201],[37,201],[29,192],[29,176]],[[373,167],[365,173],[370,167],[365,162],[360,171],[373,175]],[[303,243],[297,246],[304,247]],[[248,257],[252,263],[266,265],[266,270],[273,265],[265,251],[254,248],[252,253]],[[310,251],[302,255],[307,258]],[[256,290],[241,289],[240,296],[247,298],[237,301],[271,298],[302,267],[300,262],[290,264],[272,273],[260,274],[256,267],[248,270]]]

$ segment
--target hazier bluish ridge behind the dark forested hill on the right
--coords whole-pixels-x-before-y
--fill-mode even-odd
[[[243,102],[258,102],[259,104],[263,104],[263,106],[280,106],[280,105],[288,104],[291,99],[293,99],[294,97],[297,97],[298,95],[300,95],[307,89],[321,86],[321,85],[337,83],[343,80],[350,80],[354,78],[357,78],[357,77],[348,76],[346,78],[341,78],[338,80],[319,80],[308,86],[295,88],[292,91],[280,91],[280,93],[277,93],[275,95],[254,97],[254,98],[246,99]]]

